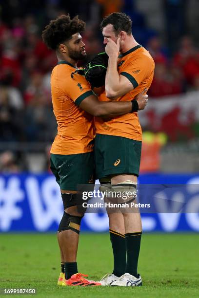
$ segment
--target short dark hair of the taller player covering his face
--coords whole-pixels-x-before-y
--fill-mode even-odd
[[[103,30],[103,28],[106,27],[108,24],[113,25],[113,29],[116,35],[118,35],[121,31],[125,31],[128,35],[131,34],[132,20],[125,13],[117,12],[105,17],[100,24],[101,30]]]

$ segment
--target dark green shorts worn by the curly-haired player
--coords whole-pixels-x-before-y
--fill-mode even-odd
[[[51,154],[51,167],[60,189],[76,191],[78,185],[94,183],[93,152],[60,155]]]

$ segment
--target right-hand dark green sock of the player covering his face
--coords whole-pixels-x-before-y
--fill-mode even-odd
[[[125,234],[126,240],[126,253],[127,253],[127,262],[126,262],[126,273],[130,273],[136,278],[138,275],[138,258],[139,258],[139,249],[141,242],[141,232],[137,233],[127,233]]]

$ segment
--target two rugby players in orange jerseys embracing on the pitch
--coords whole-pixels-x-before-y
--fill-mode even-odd
[[[76,261],[84,215],[78,208],[81,199],[77,186],[95,183],[96,177],[103,191],[136,191],[141,155],[138,110],[143,110],[147,103],[145,93],[153,79],[154,61],[132,36],[131,26],[131,19],[124,13],[113,13],[102,20],[108,66],[98,91],[77,70],[78,60],[86,56],[80,35],[85,22],[62,15],[51,20],[42,33],[44,43],[56,51],[58,58],[51,75],[58,123],[51,148],[51,170],[60,185],[64,207],[58,229],[58,285],[142,284],[137,272],[142,227],[140,214],[133,208],[131,212],[108,213],[114,257],[111,274],[99,282],[85,279]]]

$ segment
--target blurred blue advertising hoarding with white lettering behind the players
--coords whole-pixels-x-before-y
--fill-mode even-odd
[[[199,174],[142,174],[139,184],[196,185],[188,188],[189,205],[195,213],[142,214],[143,231],[199,231]],[[172,195],[175,195],[175,189]],[[183,196],[179,190],[178,196]],[[53,175],[0,175],[0,232],[54,232],[62,214],[60,188]],[[107,230],[107,214],[85,214],[81,231]]]

